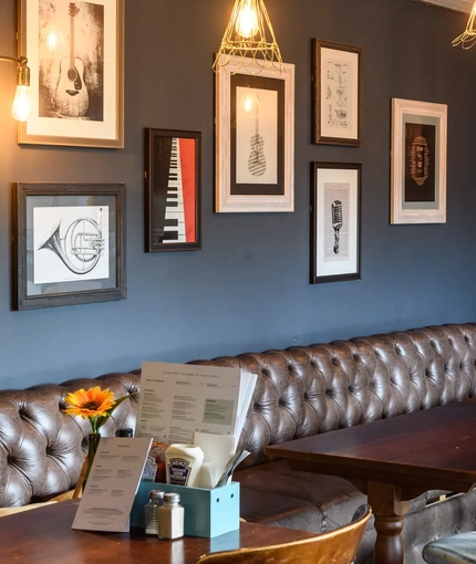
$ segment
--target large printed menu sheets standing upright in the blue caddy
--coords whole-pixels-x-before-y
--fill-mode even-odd
[[[144,362],[136,436],[193,443],[195,432],[239,438],[257,375],[240,368]]]

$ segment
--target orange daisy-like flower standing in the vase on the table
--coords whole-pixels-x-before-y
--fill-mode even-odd
[[[107,421],[114,409],[133,394],[135,391],[114,400],[114,394],[110,389],[101,389],[100,386],[87,390],[81,388],[68,394],[65,400],[68,407],[63,411],[66,415],[89,419],[92,432],[99,432],[100,427]]]

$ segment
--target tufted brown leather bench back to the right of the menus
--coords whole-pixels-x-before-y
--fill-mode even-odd
[[[259,376],[240,468],[268,445],[474,396],[475,362],[476,323],[195,361]]]

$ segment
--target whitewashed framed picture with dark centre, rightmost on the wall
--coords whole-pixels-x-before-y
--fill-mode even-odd
[[[392,98],[391,223],[446,222],[446,104]]]

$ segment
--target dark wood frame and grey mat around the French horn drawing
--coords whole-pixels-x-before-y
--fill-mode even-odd
[[[86,203],[84,203],[87,198]],[[12,307],[13,310],[38,310],[61,305],[125,300],[126,297],[126,211],[125,184],[54,184],[15,182],[13,185],[12,218]],[[54,282],[34,283],[33,209],[108,206],[108,278],[86,280],[65,279]],[[97,237],[97,231],[93,234]],[[60,257],[60,226],[43,243]],[[104,239],[100,240],[103,243]],[[65,244],[64,244],[65,246]],[[42,246],[43,247],[43,246]],[[52,248],[53,247],[53,248]],[[68,254],[66,254],[68,257]],[[62,269],[63,267],[60,265]],[[71,269],[70,269],[71,270]],[[97,288],[97,286],[101,288]]]

